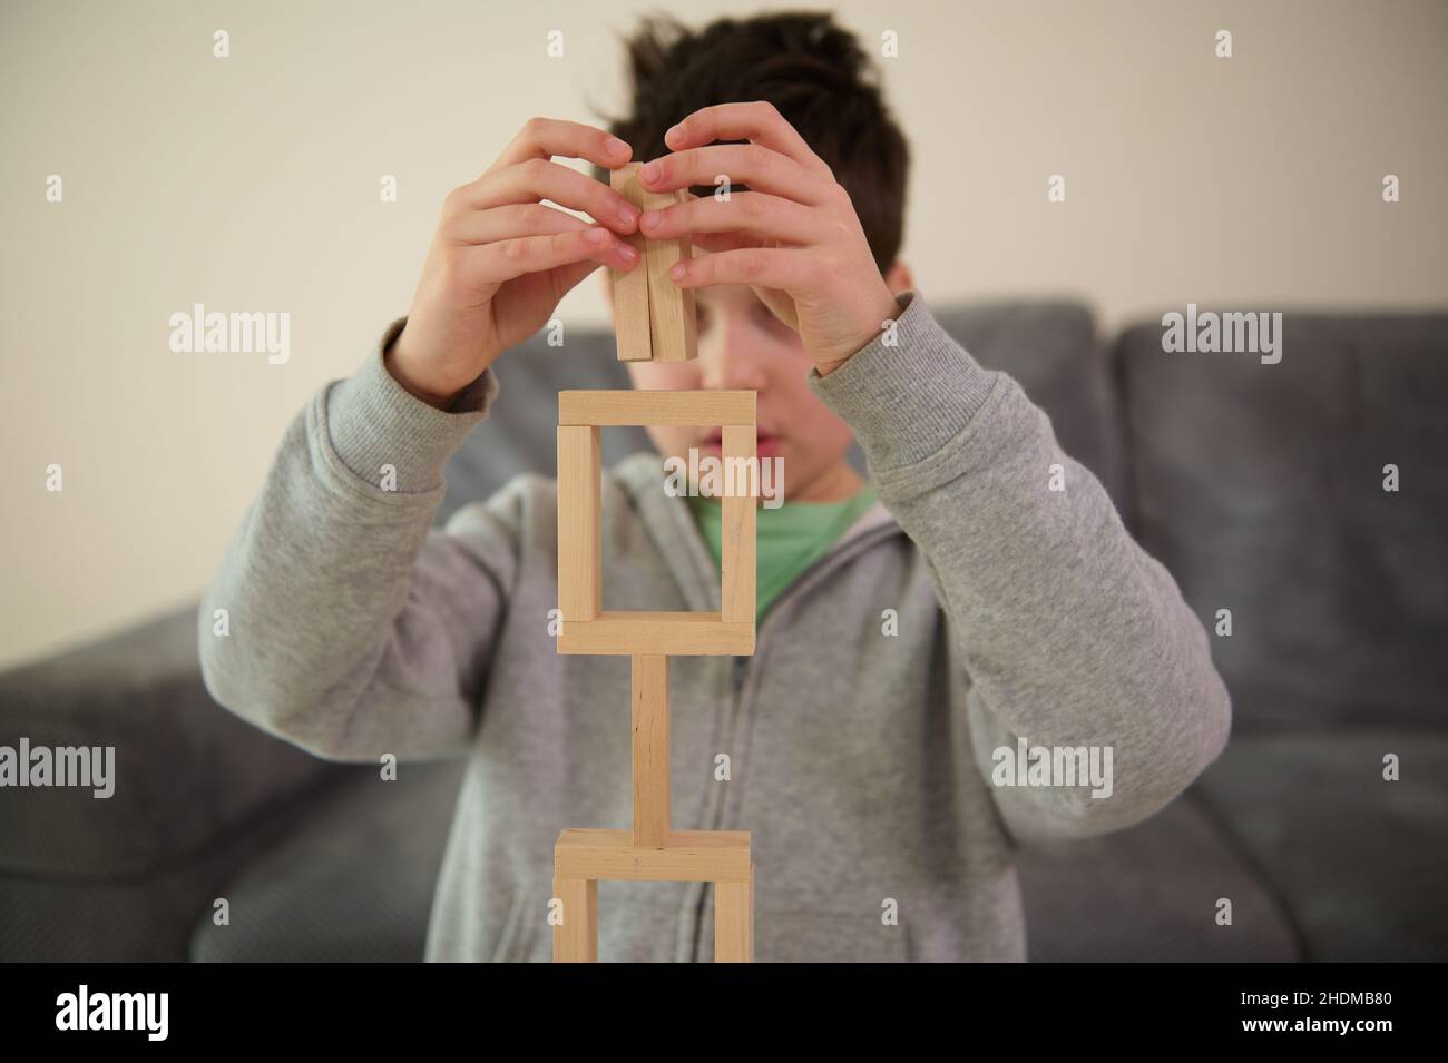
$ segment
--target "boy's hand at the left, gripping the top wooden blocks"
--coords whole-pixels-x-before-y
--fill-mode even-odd
[[[601,129],[533,119],[476,181],[443,201],[442,220],[387,369],[439,409],[508,347],[542,328],[559,299],[598,266],[628,270],[639,210],[608,185],[553,162],[560,155],[607,169],[633,150]],[[550,200],[598,224],[547,207]]]

